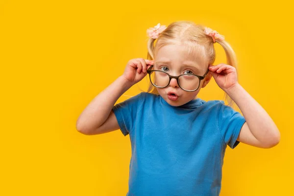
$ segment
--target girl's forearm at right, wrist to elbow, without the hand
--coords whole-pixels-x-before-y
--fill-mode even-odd
[[[261,143],[279,140],[280,132],[269,114],[252,98],[245,89],[237,84],[226,93],[240,108],[252,135]]]

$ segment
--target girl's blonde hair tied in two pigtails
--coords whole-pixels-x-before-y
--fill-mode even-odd
[[[163,46],[169,44],[183,44],[189,50],[189,53],[198,53],[202,51],[202,56],[208,60],[209,64],[213,64],[216,58],[216,51],[212,37],[204,32],[205,26],[196,25],[190,21],[177,21],[171,23],[160,33],[157,39],[149,38],[147,43],[147,59],[154,60],[156,52]],[[237,59],[234,50],[224,40],[216,40],[225,51],[227,64],[236,68]],[[158,95],[156,87],[149,83],[148,93]],[[225,100],[229,106],[233,106],[234,101],[225,93]]]

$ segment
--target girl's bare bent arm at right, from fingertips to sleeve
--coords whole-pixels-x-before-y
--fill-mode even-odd
[[[236,69],[226,64],[209,67],[217,84],[240,108],[244,123],[238,141],[262,148],[276,146],[280,141],[280,132],[269,114],[238,83]]]

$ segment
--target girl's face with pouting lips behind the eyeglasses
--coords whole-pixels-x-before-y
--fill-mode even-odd
[[[208,62],[199,55],[189,54],[183,45],[166,45],[160,48],[154,59],[154,70],[161,70],[172,76],[180,74],[196,74],[203,76],[208,69]],[[156,81],[158,84],[167,81],[164,73],[157,73]],[[182,76],[181,76],[182,77]],[[185,76],[180,79],[181,87],[187,90],[193,89],[197,81],[192,76]],[[169,78],[167,78],[169,80]],[[179,87],[177,80],[172,78],[170,84],[165,88],[157,88],[159,95],[172,106],[183,105],[196,98],[201,88],[205,87],[210,81],[211,74],[207,74],[205,79],[200,81],[199,88],[194,92],[184,91]],[[157,85],[160,86],[160,85]],[[190,89],[188,89],[190,88]]]

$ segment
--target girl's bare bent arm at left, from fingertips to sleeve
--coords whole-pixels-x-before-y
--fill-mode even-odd
[[[131,59],[123,75],[98,94],[84,109],[77,119],[76,129],[85,135],[101,134],[119,129],[112,108],[125,91],[147,75],[147,69],[151,64],[153,61],[147,59]]]

